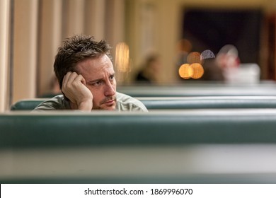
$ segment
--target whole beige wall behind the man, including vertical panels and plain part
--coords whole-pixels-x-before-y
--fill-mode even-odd
[[[113,57],[117,42],[127,42],[132,72],[122,84],[132,82],[144,56],[153,51],[161,55],[159,83],[176,83],[176,43],[182,35],[185,8],[260,8],[267,13],[276,10],[272,0],[14,0],[12,6],[13,87],[7,88],[12,90],[12,98],[7,98],[12,103],[51,91],[54,55],[69,35],[84,33],[95,35],[97,40],[104,38],[113,46]]]

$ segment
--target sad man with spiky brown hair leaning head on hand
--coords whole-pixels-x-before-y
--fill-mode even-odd
[[[63,95],[47,100],[34,111],[41,110],[117,110],[142,111],[139,100],[116,91],[115,71],[110,46],[105,40],[76,35],[59,47],[54,61],[54,73]]]

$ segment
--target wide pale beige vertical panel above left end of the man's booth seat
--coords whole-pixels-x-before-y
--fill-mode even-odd
[[[14,1],[13,103],[36,96],[38,0]]]

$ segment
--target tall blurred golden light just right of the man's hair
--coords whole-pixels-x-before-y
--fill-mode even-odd
[[[130,71],[130,49],[125,42],[119,42],[116,45],[115,66],[117,71]]]

